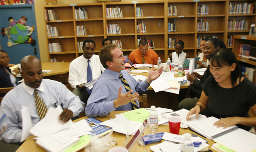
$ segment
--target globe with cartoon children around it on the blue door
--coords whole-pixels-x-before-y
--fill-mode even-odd
[[[29,43],[31,46],[36,45],[36,41],[31,37],[34,31],[34,25],[32,27],[26,26],[27,18],[21,16],[19,21],[15,21],[13,17],[8,18],[9,28],[2,28],[4,32],[1,33],[7,35],[7,46],[11,47],[17,44]]]

